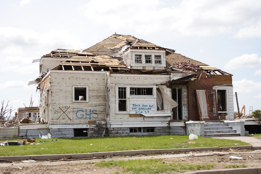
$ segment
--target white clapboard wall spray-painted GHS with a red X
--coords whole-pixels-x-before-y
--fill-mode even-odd
[[[88,124],[105,120],[106,71],[51,70],[51,124]],[[89,102],[73,102],[73,86],[88,86]]]

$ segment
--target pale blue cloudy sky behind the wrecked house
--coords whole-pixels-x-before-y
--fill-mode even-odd
[[[39,59],[133,35],[233,74],[239,107],[261,109],[261,1],[0,0],[0,100],[38,104]],[[234,101],[234,110],[236,104]],[[14,114],[14,113],[13,113]]]

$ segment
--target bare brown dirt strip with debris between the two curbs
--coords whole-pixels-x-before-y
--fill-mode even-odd
[[[246,167],[260,167],[261,151],[252,150],[229,150],[229,151],[216,151],[212,155],[197,156],[198,154],[204,155],[209,152],[193,152],[194,156],[187,156],[190,153],[178,154],[183,157],[167,157],[171,154],[157,155],[157,156],[134,156],[134,157],[112,157],[110,159],[95,159],[95,160],[75,160],[75,161],[36,161],[36,162],[1,162],[0,173],[35,173],[35,174],[58,174],[58,173],[126,173],[121,167],[98,167],[95,166],[97,162],[104,160],[135,160],[135,159],[149,159],[149,158],[162,158],[164,162],[177,163],[177,164],[213,164],[212,169],[223,169],[230,165],[244,164]],[[212,152],[211,152],[212,153]],[[242,157],[242,160],[230,160],[229,156]],[[191,172],[186,170],[184,172]]]

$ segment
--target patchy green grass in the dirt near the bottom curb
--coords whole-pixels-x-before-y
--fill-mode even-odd
[[[180,164],[165,162],[163,159],[108,161],[95,164],[99,167],[121,167],[127,173],[168,173],[183,172],[186,170],[209,170],[213,164]]]

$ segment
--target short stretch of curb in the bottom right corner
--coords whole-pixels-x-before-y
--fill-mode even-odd
[[[182,174],[261,174],[261,167],[228,168],[218,170],[195,171]],[[180,173],[181,174],[181,173]]]

